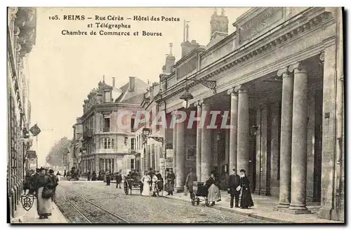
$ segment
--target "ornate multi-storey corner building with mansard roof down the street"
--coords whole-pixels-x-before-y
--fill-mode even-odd
[[[114,82],[113,78],[109,86],[105,79],[100,81],[84,100],[82,173],[110,169],[126,175],[135,168],[135,114],[143,110],[140,104],[148,85],[132,76],[121,88]]]

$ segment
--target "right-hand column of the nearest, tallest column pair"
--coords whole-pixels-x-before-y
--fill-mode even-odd
[[[307,172],[307,93],[308,79],[300,62],[291,65],[293,72],[293,124],[291,137],[291,203],[289,211],[308,213],[306,208]]]

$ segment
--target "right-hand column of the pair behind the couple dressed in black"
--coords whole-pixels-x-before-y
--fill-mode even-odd
[[[249,170],[249,93],[239,88],[237,126],[237,170]]]

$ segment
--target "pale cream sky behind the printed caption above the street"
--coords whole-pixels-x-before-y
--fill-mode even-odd
[[[225,8],[232,23],[249,8]],[[29,100],[32,105],[31,126],[38,123],[41,133],[38,145],[34,140],[39,165],[44,165],[46,155],[62,137],[73,137],[72,126],[83,114],[83,103],[88,93],[105,82],[116,86],[136,76],[147,82],[159,81],[159,74],[173,43],[173,55],[180,59],[183,41],[183,21],[190,21],[189,39],[206,46],[210,40],[210,20],[215,8],[38,8],[36,45],[29,54]],[[220,8],[217,8],[220,14]],[[50,20],[58,15],[60,20]],[[86,20],[63,20],[64,15],[85,15]],[[95,24],[95,15],[115,15],[123,21],[110,24],[131,25],[119,31],[161,32],[163,36],[68,36],[62,29],[90,32],[88,24]],[[135,15],[180,18],[179,22],[133,21]],[[101,28],[93,28],[99,32]],[[105,31],[108,29],[102,28]]]

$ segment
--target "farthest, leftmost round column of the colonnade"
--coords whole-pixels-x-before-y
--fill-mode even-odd
[[[176,165],[176,191],[180,192],[184,189],[185,184],[185,152],[184,152],[184,122],[177,123],[177,165]]]

